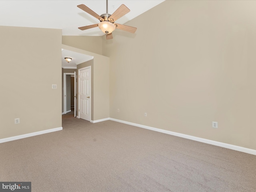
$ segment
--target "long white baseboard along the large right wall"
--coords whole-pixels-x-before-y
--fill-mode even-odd
[[[190,136],[190,135],[177,133],[177,132],[172,132],[172,131],[168,131],[168,130],[158,129],[158,128],[140,125],[140,124],[136,124],[136,123],[131,123],[131,122],[127,122],[127,121],[122,121],[122,120],[118,120],[118,119],[109,118],[109,120],[136,126],[136,127],[140,127],[140,128],[144,128],[144,129],[149,129],[152,131],[157,131],[157,132],[161,132],[161,133],[165,133],[165,134],[169,134],[169,135],[174,135],[174,136],[178,136],[178,137],[182,137],[182,138],[186,138],[186,139],[190,139],[190,140],[194,140],[194,141],[199,141],[202,143],[207,143],[207,144],[211,144],[211,145],[215,145],[215,146],[219,146],[219,147],[224,147],[224,148],[228,148],[228,149],[232,149],[232,150],[236,150],[236,151],[240,151],[240,152],[244,152],[244,153],[248,153],[248,154],[252,154],[252,155],[256,155],[256,150],[249,149],[249,148],[244,148],[244,147],[240,147],[240,146],[236,146],[236,145],[231,145],[231,144],[222,143],[222,142],[218,142],[218,141],[208,140],[208,139]]]

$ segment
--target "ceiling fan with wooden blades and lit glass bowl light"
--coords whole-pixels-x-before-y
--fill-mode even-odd
[[[137,30],[136,27],[126,26],[122,24],[115,23],[116,20],[118,20],[120,17],[124,16],[128,12],[130,12],[130,9],[128,9],[124,4],[122,4],[112,15],[108,14],[108,0],[106,0],[106,13],[102,15],[96,14],[94,11],[92,11],[90,8],[85,6],[84,4],[78,5],[78,8],[84,10],[88,14],[94,16],[98,20],[100,20],[99,24],[93,24],[88,25],[84,27],[78,27],[80,30],[86,30],[94,27],[99,27],[102,32],[106,34],[106,39],[112,39],[112,32],[117,28],[124,31],[128,31],[131,33],[135,33]]]

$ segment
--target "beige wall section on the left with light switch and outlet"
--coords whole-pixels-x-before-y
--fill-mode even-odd
[[[62,31],[6,26],[0,31],[0,139],[60,128]]]

